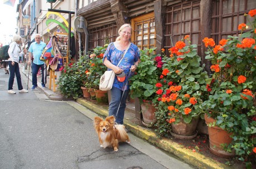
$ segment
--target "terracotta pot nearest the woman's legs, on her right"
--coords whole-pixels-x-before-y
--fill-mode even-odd
[[[145,100],[141,104],[141,112],[142,112],[142,117],[143,121],[142,124],[151,127],[155,124],[156,122],[156,117],[155,117],[155,106],[152,105],[152,101]]]

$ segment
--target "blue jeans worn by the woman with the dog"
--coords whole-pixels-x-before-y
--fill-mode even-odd
[[[124,116],[125,116],[125,107],[126,107],[126,98],[129,94],[129,90],[122,91],[117,88],[112,88],[111,90],[111,101],[109,104],[109,116],[114,116],[116,118],[117,124],[124,124]],[[124,96],[121,100],[122,93]],[[121,101],[121,104],[120,104]],[[119,107],[120,104],[120,107]],[[119,107],[119,111],[117,109]]]

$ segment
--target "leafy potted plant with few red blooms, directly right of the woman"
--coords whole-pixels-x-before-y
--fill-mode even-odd
[[[156,83],[161,73],[161,57],[154,54],[155,48],[140,50],[140,64],[130,80],[131,98],[138,98],[141,104],[143,124],[152,126],[155,123]],[[157,60],[158,59],[158,60]]]

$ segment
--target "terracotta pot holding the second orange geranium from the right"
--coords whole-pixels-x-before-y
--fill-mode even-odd
[[[198,132],[196,126],[198,125],[199,117],[193,117],[189,124],[186,124],[182,117],[177,124],[171,124],[171,135],[177,139],[190,140],[196,137]]]

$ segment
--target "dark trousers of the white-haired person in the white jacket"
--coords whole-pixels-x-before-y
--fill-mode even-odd
[[[14,77],[16,75],[16,79],[17,79],[17,84],[18,84],[18,90],[22,90],[23,86],[21,84],[21,73],[19,73],[19,64],[14,62],[15,64],[12,65],[12,61],[8,61],[8,65],[9,65],[9,72],[10,72],[10,76],[9,76],[9,83],[8,83],[8,90],[12,90],[12,86],[14,83]]]

